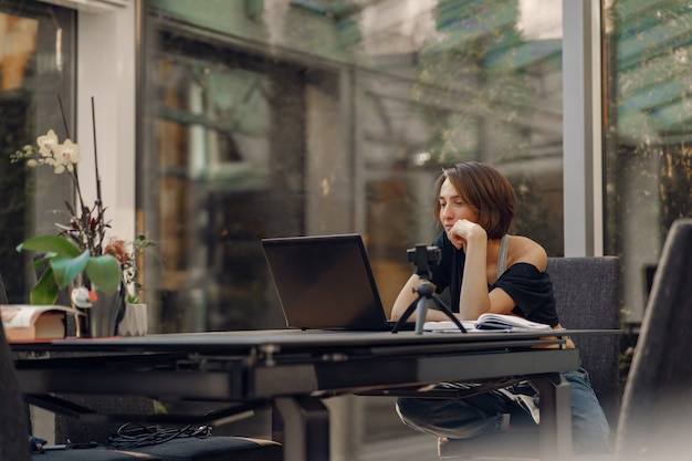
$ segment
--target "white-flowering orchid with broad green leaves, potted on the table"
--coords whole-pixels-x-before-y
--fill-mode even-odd
[[[140,286],[136,259],[151,242],[144,235],[129,243],[113,237],[106,240],[106,230],[111,226],[105,219],[101,198],[96,146],[96,200],[93,207],[87,207],[82,196],[77,174],[82,157],[80,146],[70,139],[70,134],[66,133],[66,139],[60,143],[55,132],[50,129],[36,138],[36,146],[17,150],[11,155],[11,161],[22,161],[30,168],[49,166],[56,175],[67,175],[76,191],[76,206],[65,201],[70,219],[66,224],[55,224],[57,234],[33,237],[17,247],[18,251],[40,253],[34,266],[44,269],[31,290],[30,302],[54,304],[59,292],[69,289],[72,307],[78,314],[77,336],[111,336],[117,331],[126,303],[138,301]]]

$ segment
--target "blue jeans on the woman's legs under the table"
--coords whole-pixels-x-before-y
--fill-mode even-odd
[[[610,427],[583,368],[564,373],[572,396],[572,440],[575,454],[610,451]],[[441,385],[462,387],[465,384]],[[471,385],[472,386],[472,385]],[[465,399],[400,398],[397,412],[405,425],[438,437],[468,439],[503,432],[513,418],[532,416],[538,395],[527,384],[492,390]],[[535,409],[534,408],[534,409]]]

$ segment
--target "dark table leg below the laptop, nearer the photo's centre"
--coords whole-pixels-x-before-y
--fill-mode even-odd
[[[329,461],[329,410],[317,397],[277,397],[273,439],[283,444],[285,461]]]

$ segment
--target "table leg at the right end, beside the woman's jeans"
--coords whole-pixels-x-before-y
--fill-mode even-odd
[[[539,457],[542,460],[572,459],[572,395],[569,383],[559,374],[532,376],[541,395]]]

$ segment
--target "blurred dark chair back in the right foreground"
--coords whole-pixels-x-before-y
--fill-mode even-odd
[[[692,219],[673,222],[627,378],[616,448],[621,459],[692,453]]]

